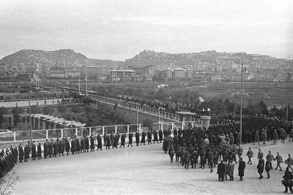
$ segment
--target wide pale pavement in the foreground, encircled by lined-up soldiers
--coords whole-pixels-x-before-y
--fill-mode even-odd
[[[244,160],[249,145],[244,147]],[[151,144],[83,154],[58,156],[18,163],[20,181],[15,195],[276,195],[283,194],[281,184],[284,171],[272,170],[271,178],[258,179],[257,151],[254,146],[252,165],[246,164],[244,181],[239,181],[238,163],[234,168],[234,181],[219,182],[209,168],[184,169],[178,162],[170,163],[162,144]],[[266,156],[280,152],[283,159],[293,153],[293,143],[261,145]],[[175,158],[174,158],[175,159]],[[238,157],[237,157],[238,160]],[[273,168],[276,162],[272,162]],[[287,165],[282,163],[285,170]],[[208,166],[206,166],[208,167]]]

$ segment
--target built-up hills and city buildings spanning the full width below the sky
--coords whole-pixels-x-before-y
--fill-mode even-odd
[[[86,66],[86,65],[87,66]],[[0,78],[32,72],[46,78],[83,78],[106,82],[143,81],[285,81],[293,72],[293,60],[245,52],[204,51],[169,54],[144,50],[131,59],[87,59],[70,49],[21,50],[0,60]]]

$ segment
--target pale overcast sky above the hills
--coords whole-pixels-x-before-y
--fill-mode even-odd
[[[0,0],[0,58],[14,48],[115,60],[145,49],[293,59],[293,0]]]

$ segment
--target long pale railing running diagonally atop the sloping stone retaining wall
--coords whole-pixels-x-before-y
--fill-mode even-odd
[[[171,120],[179,120],[179,115],[177,115],[176,113],[168,113],[166,111],[157,110],[152,107],[139,106],[139,105],[136,105],[135,103],[129,103],[124,100],[120,100],[116,98],[100,97],[100,96],[93,96],[93,95],[89,95],[89,97],[101,102],[111,104],[111,105],[117,104],[117,106],[127,108],[133,111],[139,111],[141,113],[145,113],[148,115],[154,115],[154,116],[171,119]]]

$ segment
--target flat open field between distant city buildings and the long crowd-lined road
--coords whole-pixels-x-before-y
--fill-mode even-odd
[[[157,88],[158,84],[168,84],[168,87]],[[181,86],[179,86],[181,84]],[[240,82],[192,82],[184,86],[185,82],[143,82],[143,83],[88,83],[88,89],[100,90],[108,93],[116,91],[120,94],[149,95],[154,91],[159,93],[160,90],[172,95],[182,90],[197,92],[205,100],[228,98],[230,101],[240,102]],[[78,83],[73,84],[78,88]],[[81,84],[85,89],[85,83]],[[287,83],[263,83],[263,82],[244,82],[243,83],[243,103],[247,104],[248,100],[263,100],[268,106],[285,106],[287,102]],[[168,101],[168,99],[166,99]],[[289,83],[289,104],[293,104],[293,83]]]

